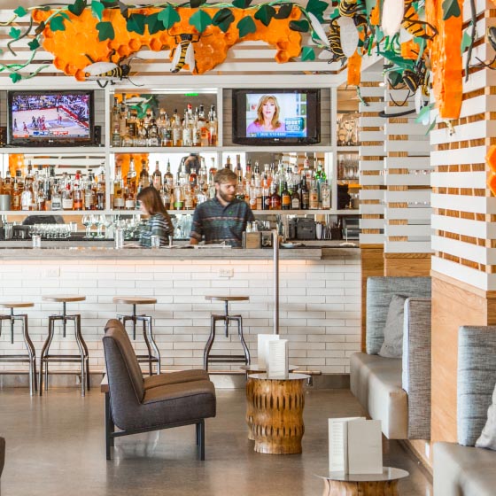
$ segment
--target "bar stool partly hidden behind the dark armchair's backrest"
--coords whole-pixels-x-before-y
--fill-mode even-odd
[[[133,322],[133,341],[136,341],[136,322],[143,322],[143,338],[148,354],[136,355],[138,361],[147,361],[150,368],[150,375],[153,374],[152,363],[157,364],[157,374],[160,373],[160,353],[155,339],[153,339],[153,331],[151,329],[151,316],[150,315],[136,315],[136,305],[155,305],[157,298],[139,297],[139,296],[115,296],[112,298],[113,303],[124,303],[133,306],[133,314],[122,315],[118,314],[117,318],[122,322],[126,328],[126,322]],[[151,353],[153,349],[153,353]]]

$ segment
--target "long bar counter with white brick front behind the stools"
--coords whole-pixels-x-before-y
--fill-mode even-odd
[[[289,341],[292,364],[323,374],[345,374],[350,354],[360,350],[360,248],[341,247],[342,242],[304,243],[311,246],[279,250],[279,332]],[[33,249],[30,240],[0,243],[0,300],[34,303],[26,313],[37,359],[48,317],[59,311],[43,296],[86,297],[69,304],[67,312],[81,314],[92,372],[105,366],[105,323],[129,311],[128,306],[113,303],[114,296],[157,298],[157,304],[138,306],[137,312],[153,317],[165,369],[202,367],[210,316],[223,310],[222,303],[207,301],[206,295],[247,296],[248,301],[233,302],[229,312],[243,315],[244,337],[256,363],[257,335],[274,331],[274,280],[271,248],[115,250],[112,241],[43,240],[41,249]],[[68,329],[66,338],[56,329],[54,350],[76,351]],[[12,353],[9,334],[0,336],[0,353]],[[229,337],[218,334],[215,353],[239,353],[236,332]],[[20,330],[15,337],[13,346],[22,347]],[[143,353],[141,333],[135,345],[137,353]],[[53,371],[71,367],[52,365]],[[21,365],[3,368],[19,370]]]

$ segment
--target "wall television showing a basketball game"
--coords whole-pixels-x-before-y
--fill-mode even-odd
[[[94,144],[92,90],[9,91],[11,146]]]

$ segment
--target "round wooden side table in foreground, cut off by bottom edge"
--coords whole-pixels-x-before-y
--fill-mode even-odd
[[[398,481],[409,474],[407,470],[384,467],[382,474],[344,474],[329,472],[322,496],[397,496]]]

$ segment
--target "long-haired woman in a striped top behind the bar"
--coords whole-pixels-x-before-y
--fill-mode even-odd
[[[151,236],[159,236],[160,246],[167,246],[168,236],[173,235],[174,228],[159,191],[153,186],[148,186],[139,192],[136,199],[140,202],[140,210],[145,215],[150,215],[140,233],[140,244],[151,246]]]

